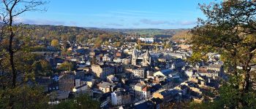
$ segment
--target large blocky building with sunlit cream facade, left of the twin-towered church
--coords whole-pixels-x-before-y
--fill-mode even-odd
[[[115,72],[115,68],[109,65],[91,65],[92,72],[99,78],[106,79]]]

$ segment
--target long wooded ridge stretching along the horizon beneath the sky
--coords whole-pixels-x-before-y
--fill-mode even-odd
[[[1,23],[0,23],[1,26]],[[189,29],[113,29],[113,28],[80,28],[63,25],[24,25],[31,31],[31,37],[37,40],[59,39],[68,41],[88,41],[97,39],[98,36],[114,38],[129,35],[135,36],[154,36],[161,38],[171,38],[173,40],[187,39],[189,36],[184,31]],[[23,35],[23,34],[20,34]],[[173,37],[173,38],[172,38]],[[101,37],[102,39],[102,37]],[[105,38],[104,38],[105,39]],[[106,40],[106,39],[105,39]]]

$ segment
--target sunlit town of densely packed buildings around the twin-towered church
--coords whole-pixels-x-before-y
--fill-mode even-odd
[[[208,62],[190,64],[189,44],[142,37],[121,47],[113,47],[111,39],[108,42],[94,49],[93,44],[68,41],[70,53],[66,56],[34,52],[44,55],[54,68],[67,68],[53,76],[36,78],[48,92],[49,104],[88,94],[99,100],[100,108],[162,108],[173,102],[214,100],[214,91],[226,78],[217,54],[209,54]],[[163,47],[163,43],[170,47]],[[68,68],[68,63],[73,68]]]

